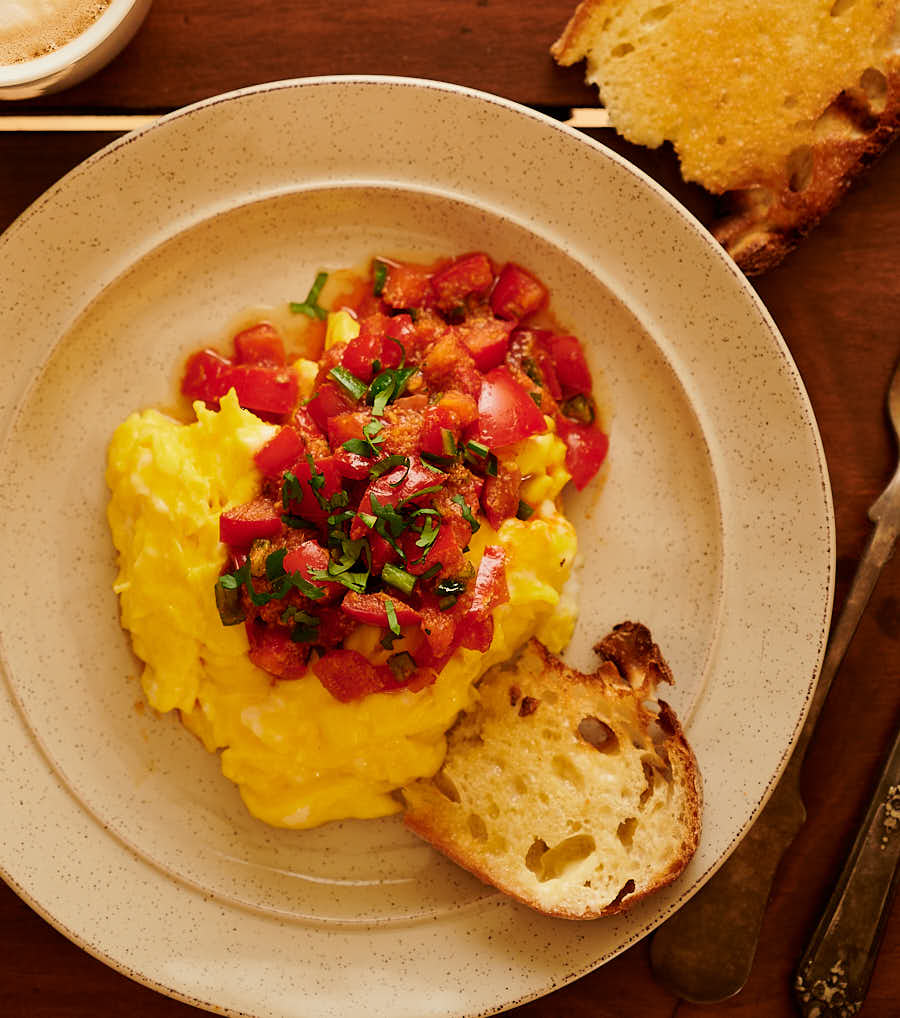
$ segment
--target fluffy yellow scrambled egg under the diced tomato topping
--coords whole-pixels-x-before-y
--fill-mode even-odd
[[[247,657],[243,626],[222,625],[214,586],[225,561],[219,514],[254,497],[254,454],[275,429],[242,410],[234,393],[219,412],[194,406],[182,425],[155,410],[134,413],[109,450],[108,516],[119,553],[115,589],[122,624],[146,664],[143,684],[157,711],[177,710],[186,728],[235,782],[247,808],[268,824],[310,828],[343,817],[399,810],[392,794],[434,774],[445,732],[472,702],[473,684],[538,635],[552,651],[568,641],[573,617],[561,591],[575,555],[575,533],[552,501],[568,480],[565,447],[553,434],[507,451],[532,502],[527,521],[486,520],[473,535],[473,565],[486,545],[507,554],[510,600],[494,611],[486,654],[459,648],[437,682],[419,692],[336,700],[310,672],[277,681]],[[379,631],[362,626],[347,641],[373,661],[385,655]],[[402,643],[396,649],[402,649]]]

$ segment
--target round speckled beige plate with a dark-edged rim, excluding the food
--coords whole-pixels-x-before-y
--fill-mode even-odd
[[[135,710],[104,519],[106,444],[247,304],[376,251],[484,248],[550,285],[603,380],[601,496],[571,499],[571,660],[653,630],[706,778],[699,851],[630,915],[566,923],[396,817],[269,830],[172,718]],[[88,951],[223,1013],[428,1018],[573,979],[734,847],[800,726],[833,583],[826,466],[753,291],[636,170],[436,82],[310,79],[210,100],[79,166],[0,238],[0,868]]]

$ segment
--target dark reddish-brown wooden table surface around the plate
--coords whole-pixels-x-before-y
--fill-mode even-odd
[[[533,9],[531,7],[533,6]],[[564,114],[596,105],[579,69],[548,48],[570,0],[156,0],[128,49],[105,71],[58,96],[7,103],[0,118],[163,112],[278,78],[329,73],[409,74],[498,93]],[[82,122],[83,121],[79,121]],[[8,125],[0,119],[0,128]],[[641,165],[704,214],[668,152],[611,131],[594,136]],[[115,136],[0,129],[0,228],[47,186]],[[894,467],[884,410],[900,354],[900,147],[755,286],[797,362],[819,419],[837,521],[836,608],[869,523],[866,509]],[[14,343],[4,336],[3,343]],[[698,1007],[653,977],[649,942],[555,994],[521,1018],[781,1018],[795,1014],[790,983],[852,841],[900,721],[900,556],[889,564],[833,686],[804,772],[808,821],[778,873],[749,982],[732,1000]],[[863,1018],[900,1015],[900,922],[888,924]],[[4,1018],[174,1018],[193,1008],[132,982],[82,953],[0,885],[0,1014]]]

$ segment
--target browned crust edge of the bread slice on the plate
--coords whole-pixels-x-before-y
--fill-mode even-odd
[[[595,649],[599,654],[603,655],[604,652],[601,648],[609,646],[607,641],[614,636],[616,631],[620,630],[624,626],[630,625],[633,625],[633,623],[621,623],[616,626],[613,632],[604,637],[604,639],[597,644]],[[646,632],[645,627],[639,626],[639,628]],[[656,643],[653,643],[652,640],[650,642],[652,647],[650,649],[650,654],[652,655],[655,663],[661,666],[661,671],[665,676],[665,681],[671,682],[671,672],[663,659],[659,647]],[[609,669],[611,667],[616,667],[612,664],[611,659],[605,658],[596,672],[579,672],[576,669],[564,666],[562,662],[556,656],[552,655],[539,640],[531,639],[528,646],[542,658],[546,671],[564,672],[564,681],[567,682],[592,684],[599,681],[604,685],[608,685],[608,676],[610,674]],[[646,689],[637,690],[636,694],[650,696],[651,691]],[[682,816],[680,817],[682,830],[684,831],[684,837],[682,838],[677,855],[672,859],[669,866],[659,874],[657,880],[640,890],[635,890],[630,894],[622,896],[620,899],[617,899],[602,909],[572,912],[561,907],[554,909],[541,908],[537,906],[533,901],[521,897],[514,889],[504,885],[504,883],[497,881],[494,876],[489,874],[470,856],[460,852],[454,842],[437,837],[428,824],[420,823],[417,818],[411,816],[408,811],[405,811],[403,814],[403,823],[408,830],[429,842],[439,852],[446,855],[462,869],[472,873],[484,884],[496,887],[508,897],[528,906],[543,915],[561,919],[587,920],[603,918],[605,916],[624,912],[627,909],[632,908],[648,896],[655,894],[665,887],[668,887],[675,880],[677,880],[677,878],[684,871],[696,851],[697,845],[699,844],[701,826],[700,815],[702,812],[702,783],[699,768],[693,750],[690,748],[690,745],[684,736],[681,723],[678,721],[674,711],[672,711],[665,700],[658,700],[658,704],[659,715],[657,716],[656,721],[665,734],[662,747],[669,757],[670,767],[672,768],[673,781],[680,779],[682,782],[682,788],[684,789],[685,802],[682,810]],[[639,706],[639,710],[645,711],[642,705]]]

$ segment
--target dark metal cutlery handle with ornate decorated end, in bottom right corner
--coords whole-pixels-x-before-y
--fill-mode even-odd
[[[900,730],[865,819],[797,968],[805,1018],[855,1015],[871,979],[900,861]]]

